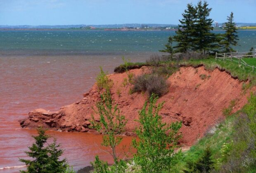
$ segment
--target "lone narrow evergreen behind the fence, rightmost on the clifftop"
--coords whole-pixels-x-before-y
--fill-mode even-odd
[[[224,23],[223,28],[226,31],[225,34],[223,34],[223,41],[222,44],[224,46],[225,52],[232,52],[234,49],[232,49],[231,46],[237,45],[238,35],[237,35],[237,28],[235,26],[234,22],[234,16],[233,12],[231,12],[230,16],[228,16],[228,21]]]

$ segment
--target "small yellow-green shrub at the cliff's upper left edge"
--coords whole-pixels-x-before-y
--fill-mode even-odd
[[[102,89],[108,90],[113,85],[113,82],[109,80],[107,74],[102,70],[102,67],[100,67],[100,73],[96,77],[96,84],[99,91]]]

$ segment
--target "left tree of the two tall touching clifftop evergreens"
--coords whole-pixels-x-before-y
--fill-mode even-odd
[[[173,37],[175,42],[177,42],[177,45],[174,47],[175,52],[186,53],[193,46],[196,13],[197,11],[194,6],[187,4],[187,9],[182,14],[183,19],[179,20],[178,31],[175,32],[176,35]]]

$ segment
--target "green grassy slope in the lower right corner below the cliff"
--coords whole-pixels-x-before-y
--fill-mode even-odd
[[[235,101],[231,101],[230,105],[234,104]],[[243,157],[255,161],[255,114],[256,96],[251,95],[249,102],[242,110],[226,117],[220,124],[213,126],[190,150],[184,152],[183,159],[175,166],[176,172],[187,170],[187,163],[197,161],[206,147],[211,148],[215,171],[223,172],[223,170],[230,168],[233,172],[238,170],[238,172],[254,172],[256,168],[253,161],[247,167],[242,165],[245,160]],[[232,147],[228,154],[223,156],[223,150],[227,145],[232,145]],[[225,158],[223,159],[223,157]]]

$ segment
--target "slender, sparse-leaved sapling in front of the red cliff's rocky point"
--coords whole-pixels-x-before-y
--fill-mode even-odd
[[[97,129],[97,131],[104,135],[102,146],[111,149],[111,152],[106,152],[111,154],[114,159],[115,165],[113,168],[122,170],[123,166],[126,166],[126,164],[123,164],[123,161],[119,160],[116,154],[116,146],[119,145],[123,139],[118,135],[124,132],[127,119],[125,119],[124,115],[120,115],[117,104],[114,105],[110,90],[105,91],[101,95],[101,100],[96,104],[96,107],[97,111],[95,110],[95,112],[100,115],[100,122],[96,122],[95,117],[92,115],[91,128]],[[105,162],[98,161],[97,156],[95,159],[92,166],[101,165],[102,168],[105,168]],[[111,167],[111,169],[113,168]]]

